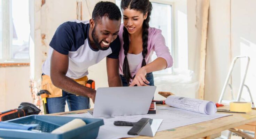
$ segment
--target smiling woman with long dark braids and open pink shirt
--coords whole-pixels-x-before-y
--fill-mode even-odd
[[[152,4],[149,0],[122,0],[119,72],[123,86],[154,85],[152,72],[172,66],[172,57],[161,30],[149,27]],[[153,52],[157,58],[151,62]],[[132,80],[133,79],[133,80]]]

